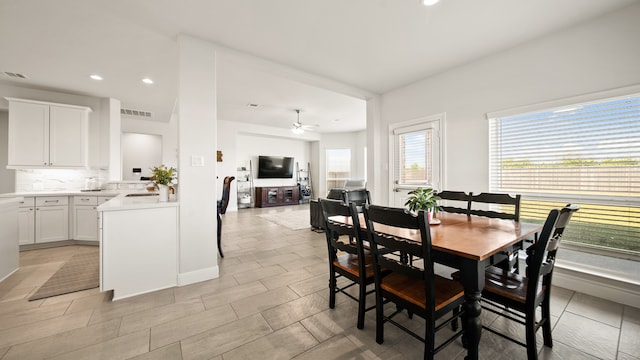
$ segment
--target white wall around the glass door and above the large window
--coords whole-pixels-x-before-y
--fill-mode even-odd
[[[446,113],[444,187],[488,190],[486,113],[640,83],[638,19],[640,4],[384,94],[375,164],[390,123]]]

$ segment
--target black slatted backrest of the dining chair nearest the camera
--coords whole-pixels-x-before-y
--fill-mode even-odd
[[[420,210],[416,216],[405,208],[370,205],[364,208],[364,215],[369,243],[374,255],[374,270],[385,268],[424,281],[426,311],[430,312],[432,315],[430,318],[433,318],[435,287],[431,231],[427,212]],[[397,235],[386,233],[384,227],[380,225],[418,231],[422,241],[401,239]],[[422,267],[404,261],[402,255],[423,259]]]

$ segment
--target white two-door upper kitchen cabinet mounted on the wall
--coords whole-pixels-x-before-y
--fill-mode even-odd
[[[83,168],[90,108],[9,100],[9,168]]]

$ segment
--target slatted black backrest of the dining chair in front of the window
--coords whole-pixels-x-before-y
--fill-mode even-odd
[[[549,212],[538,240],[530,248],[531,250],[529,250],[529,256],[527,257],[526,277],[529,279],[527,302],[535,301],[538,293],[537,286],[532,285],[551,286],[556,252],[571,216],[578,209],[577,205],[567,204],[561,210],[553,209]]]

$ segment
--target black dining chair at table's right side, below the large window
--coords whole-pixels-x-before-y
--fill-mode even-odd
[[[553,209],[549,212],[538,240],[529,248],[525,276],[496,267],[489,267],[485,272],[482,308],[524,325],[526,342],[491,327],[483,328],[525,346],[529,360],[538,358],[536,332],[539,328],[542,327],[544,345],[553,346],[550,313],[553,268],[562,234],[578,209],[577,205],[568,204],[562,210]],[[536,321],[538,307],[542,311],[540,320]]]

